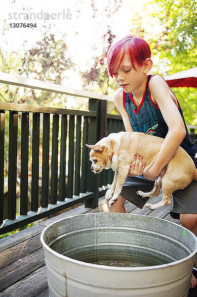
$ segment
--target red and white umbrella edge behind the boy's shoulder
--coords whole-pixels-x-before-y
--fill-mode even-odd
[[[169,87],[197,88],[197,67],[168,75],[165,80]]]

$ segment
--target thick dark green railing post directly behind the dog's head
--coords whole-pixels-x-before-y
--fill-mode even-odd
[[[106,101],[106,100],[105,100]],[[97,117],[89,117],[88,122],[88,144],[95,144],[107,131],[107,101],[89,99],[89,110],[96,111]],[[90,170],[91,163],[87,167],[87,191],[94,192],[94,198],[85,201],[85,207],[97,207],[99,198],[99,176]]]

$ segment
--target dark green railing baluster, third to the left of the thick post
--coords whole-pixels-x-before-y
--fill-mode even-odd
[[[68,198],[73,198],[74,185],[74,129],[75,116],[69,117],[69,167],[68,167]]]

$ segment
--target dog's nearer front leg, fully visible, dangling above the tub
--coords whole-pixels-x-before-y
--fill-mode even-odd
[[[130,169],[129,165],[125,165],[124,167],[121,167],[121,168],[119,167],[116,188],[115,188],[113,197],[109,200],[109,206],[115,204],[115,202],[118,200],[118,196],[119,196],[119,194],[122,190],[122,187],[125,183],[129,169]]]

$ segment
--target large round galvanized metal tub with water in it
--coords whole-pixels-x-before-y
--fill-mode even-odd
[[[41,243],[50,297],[188,296],[197,239],[175,223],[126,213],[83,214],[46,227]],[[121,256],[138,253],[146,255],[148,263],[150,258],[165,264],[117,267],[85,262],[88,257],[96,263],[98,257],[103,263],[103,254],[121,265]]]

